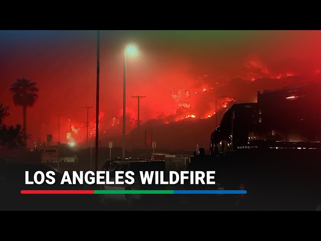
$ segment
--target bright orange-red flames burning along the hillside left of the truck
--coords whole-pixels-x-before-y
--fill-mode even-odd
[[[255,76],[255,75],[254,75]],[[216,97],[213,89],[216,87],[209,86],[209,82],[205,82],[205,78],[207,79],[208,75],[203,75],[199,79],[198,87],[196,86],[188,86],[187,88],[180,88],[177,90],[171,91],[171,97],[174,100],[173,108],[161,109],[155,111],[155,117],[158,119],[163,119],[163,123],[168,125],[170,122],[179,122],[188,118],[192,119],[206,119],[214,116],[216,114],[213,109],[216,109],[215,99],[221,101],[218,102],[217,108],[227,108],[230,105],[230,102],[235,101],[233,98],[229,96],[224,97]],[[254,78],[254,77],[253,77]],[[256,78],[256,76],[255,76]],[[213,83],[215,85],[220,84],[219,81]],[[206,103],[206,104],[204,104]],[[126,133],[127,130],[130,130],[136,126],[136,118],[135,111],[131,111],[126,108]],[[99,113],[99,120],[104,117],[104,113]],[[110,116],[109,121],[99,122],[99,132],[101,134],[116,134],[116,132],[121,132],[120,128],[117,128],[118,124],[120,124],[122,119],[122,109],[120,109],[119,113],[116,114],[115,117]],[[70,122],[69,122],[70,123]],[[70,125],[70,124],[69,124]],[[85,138],[86,132],[82,132],[84,128],[84,124],[79,125],[71,125],[69,126],[71,131],[66,133],[66,139],[68,142],[74,142],[76,138],[78,142],[82,140],[81,138]],[[77,127],[77,128],[76,128]],[[119,127],[119,126],[118,126]],[[86,129],[86,128],[85,128]],[[80,135],[81,136],[80,138]],[[89,137],[94,137],[96,135],[96,122],[93,120],[88,124],[88,135]],[[84,139],[83,139],[84,140]]]

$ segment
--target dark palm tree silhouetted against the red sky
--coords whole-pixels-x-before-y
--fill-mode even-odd
[[[22,78],[17,79],[15,83],[10,86],[10,90],[13,92],[13,99],[15,105],[21,105],[23,109],[23,117],[24,117],[24,126],[23,130],[26,132],[27,127],[27,118],[26,118],[26,110],[27,106],[32,106],[36,99],[38,98],[38,88],[36,87],[36,83],[32,82],[28,79]]]

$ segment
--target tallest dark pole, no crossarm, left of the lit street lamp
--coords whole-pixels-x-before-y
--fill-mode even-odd
[[[95,171],[98,169],[98,132],[99,132],[99,45],[100,45],[100,32],[97,30],[97,79],[96,79],[96,160]]]

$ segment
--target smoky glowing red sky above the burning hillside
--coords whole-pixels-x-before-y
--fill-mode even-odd
[[[255,101],[257,90],[315,80],[321,70],[320,31],[101,31],[100,42],[101,132],[112,136],[121,133],[112,123],[113,117],[121,120],[122,53],[128,43],[138,49],[127,62],[128,132],[137,115],[132,95],[146,95],[140,101],[142,125],[162,113],[165,124],[213,113],[220,96],[220,105],[228,97]],[[39,99],[27,110],[32,141],[46,134],[57,139],[58,113],[61,136],[75,125],[75,138],[84,140],[84,106],[95,106],[96,31],[0,31],[0,102],[11,107],[7,124],[22,123],[22,108],[9,91],[22,77],[39,88]],[[184,103],[190,109],[177,113]],[[95,119],[94,108],[89,119]]]

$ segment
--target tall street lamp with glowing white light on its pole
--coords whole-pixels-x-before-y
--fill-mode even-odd
[[[137,56],[138,51],[134,45],[128,45],[124,49],[124,73],[123,73],[123,105],[122,105],[122,158],[125,158],[125,132],[126,132],[126,69],[127,69],[127,54]]]

